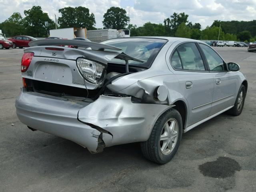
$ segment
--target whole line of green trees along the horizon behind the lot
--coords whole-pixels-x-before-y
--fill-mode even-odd
[[[58,18],[58,28],[87,28],[95,30],[95,17],[86,7],[65,7],[59,9],[61,16]],[[47,37],[48,30],[55,28],[55,22],[40,6],[33,6],[24,10],[25,17],[22,18],[18,12],[13,13],[10,18],[0,23],[0,29],[6,36],[29,35],[34,37]],[[137,27],[128,24],[130,18],[126,10],[119,7],[110,7],[103,15],[103,27],[112,29],[129,29],[130,36],[176,36],[192,38],[197,40],[233,40],[233,41],[255,41],[256,20],[253,21],[219,21],[215,20],[211,26],[202,29],[200,23],[188,21],[188,15],[175,13],[170,18],[164,19],[162,24],[146,22]],[[220,31],[220,34],[219,34]]]

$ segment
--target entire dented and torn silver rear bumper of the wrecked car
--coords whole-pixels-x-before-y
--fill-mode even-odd
[[[72,140],[91,152],[146,141],[155,121],[172,106],[135,104],[130,97],[100,96],[94,102],[71,101],[22,88],[16,113],[27,126]]]

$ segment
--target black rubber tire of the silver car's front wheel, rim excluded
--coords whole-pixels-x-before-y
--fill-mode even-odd
[[[242,98],[242,103],[239,105],[239,98],[240,98],[240,93],[243,93],[243,98]],[[238,94],[236,96],[236,102],[234,104],[234,107],[232,107],[230,110],[227,111],[228,114],[233,115],[233,116],[238,116],[242,113],[242,110],[244,108],[244,100],[246,97],[246,90],[244,85],[240,86],[240,89],[238,91]]]

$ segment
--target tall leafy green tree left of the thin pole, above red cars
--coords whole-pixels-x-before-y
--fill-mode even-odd
[[[46,37],[47,31],[55,28],[54,21],[47,13],[42,11],[40,6],[33,6],[29,10],[24,10],[24,27],[26,34],[34,37]]]

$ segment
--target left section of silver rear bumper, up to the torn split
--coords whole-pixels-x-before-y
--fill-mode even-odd
[[[72,140],[88,150],[96,152],[100,132],[77,120],[78,111],[85,104],[67,99],[56,99],[21,89],[15,106],[19,120],[29,127]]]

